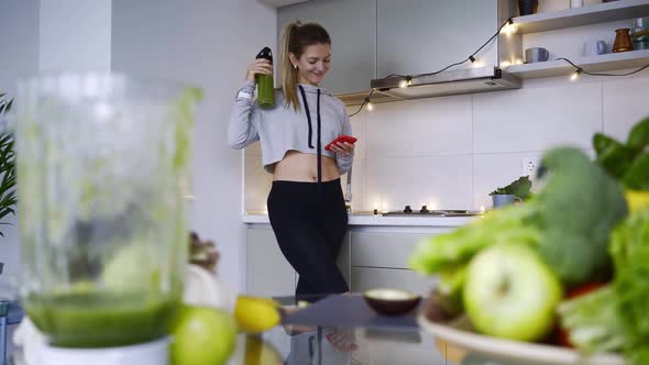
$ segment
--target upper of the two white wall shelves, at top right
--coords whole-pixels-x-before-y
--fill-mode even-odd
[[[649,16],[649,0],[618,0],[518,16],[514,18],[514,24],[518,27],[518,34],[528,34],[641,16]]]

